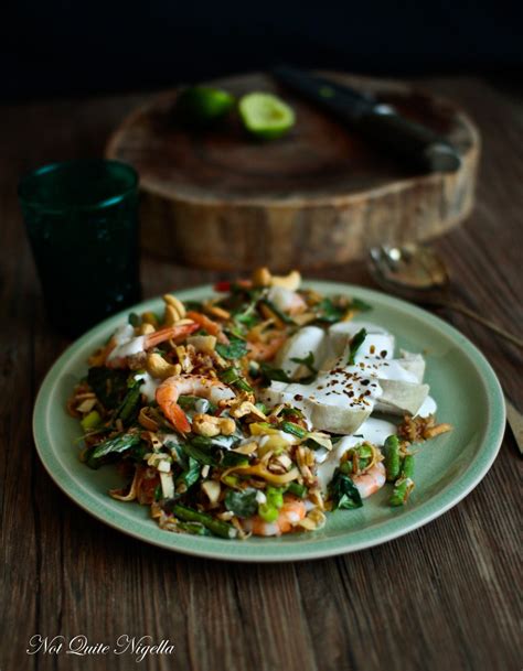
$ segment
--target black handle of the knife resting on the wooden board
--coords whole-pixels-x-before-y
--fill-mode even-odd
[[[413,166],[429,172],[455,172],[461,165],[456,149],[429,128],[380,107],[362,115],[354,123],[365,138],[387,148]]]

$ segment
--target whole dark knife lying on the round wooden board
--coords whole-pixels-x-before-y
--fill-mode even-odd
[[[279,66],[274,77],[303,98],[329,110],[380,149],[413,167],[429,172],[455,172],[459,151],[431,129],[399,115],[369,94],[295,67]]]

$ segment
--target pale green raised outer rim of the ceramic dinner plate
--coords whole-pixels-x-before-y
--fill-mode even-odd
[[[321,288],[323,291],[328,291],[330,293],[334,293],[337,291],[346,292],[349,295],[357,295],[371,302],[372,300],[376,300],[381,305],[391,307],[395,312],[404,312],[418,317],[424,323],[427,323],[436,328],[438,335],[450,340],[452,345],[459,349],[460,354],[463,355],[473,366],[478,376],[482,380],[488,400],[488,408],[491,410],[491,412],[489,412],[489,416],[484,425],[480,448],[476,453],[472,462],[470,462],[470,464],[467,466],[466,470],[460,474],[460,476],[452,479],[446,487],[444,487],[442,490],[436,495],[436,497],[429,499],[426,505],[421,505],[410,511],[403,511],[401,517],[398,516],[394,519],[382,522],[382,524],[385,527],[384,531],[377,532],[371,538],[363,539],[361,541],[351,543],[351,532],[348,532],[348,534],[338,534],[334,538],[321,539],[311,545],[298,546],[293,543],[286,545],[285,541],[281,542],[281,540],[279,540],[279,542],[273,546],[265,543],[264,545],[259,545],[260,550],[263,549],[262,554],[256,552],[253,543],[246,542],[244,551],[241,550],[242,545],[236,545],[236,549],[233,550],[233,548],[230,545],[230,541],[211,539],[207,537],[200,539],[191,535],[174,534],[172,532],[159,529],[158,526],[152,522],[152,520],[151,522],[154,526],[151,527],[150,530],[146,529],[146,532],[143,533],[141,529],[129,529],[128,523],[125,521],[125,517],[121,515],[117,515],[117,521],[114,521],[108,511],[104,513],[104,506],[102,507],[102,511],[96,509],[94,510],[93,507],[89,507],[88,489],[86,489],[87,500],[84,501],[83,495],[77,494],[74,481],[70,481],[72,476],[67,473],[63,464],[60,463],[58,457],[53,451],[52,436],[47,434],[49,422],[46,421],[47,413],[52,409],[52,403],[47,399],[51,399],[52,397],[51,392],[56,387],[60,375],[63,372],[62,369],[67,367],[67,362],[75,355],[75,353],[81,350],[93,338],[98,337],[99,334],[105,329],[109,329],[111,327],[114,328],[118,321],[121,321],[128,316],[129,312],[139,312],[140,310],[150,307],[152,303],[161,301],[161,296],[153,296],[142,301],[95,325],[79,338],[74,340],[58,356],[58,358],[53,362],[51,368],[45,374],[36,394],[32,426],[36,453],[51,479],[83,510],[88,512],[95,519],[104,522],[113,529],[126,533],[127,535],[164,550],[181,552],[186,555],[234,562],[280,563],[288,561],[307,561],[357,552],[406,535],[407,533],[428,524],[436,518],[445,515],[448,510],[453,508],[453,506],[459,504],[470,494],[470,491],[472,491],[472,489],[479,485],[479,483],[490,470],[495,457],[498,456],[503,440],[505,428],[504,396],[501,383],[487,357],[476,345],[473,345],[473,343],[471,343],[471,340],[469,340],[469,338],[440,317],[384,292],[356,284],[329,280],[306,280],[303,281],[303,286]],[[180,289],[177,290],[177,295],[183,300],[184,294],[185,297],[188,297],[188,294],[204,294],[205,292],[207,294],[214,293],[213,285],[201,284],[198,286]],[[492,408],[499,410],[499,412],[492,412]],[[57,469],[54,468],[55,465],[58,466]],[[65,480],[60,477],[61,475],[65,475]],[[446,498],[445,504],[441,506],[435,506],[434,499],[438,500],[441,496],[445,496]],[[107,504],[109,504],[111,500],[113,499],[108,497]],[[433,505],[430,506],[430,504]],[[405,519],[405,516],[413,519]],[[363,533],[365,529],[366,528],[363,528],[356,533]],[[160,532],[160,534],[166,534],[164,541],[162,540],[163,535],[157,538],[158,532]],[[201,543],[202,546],[199,548],[199,543]],[[209,544],[215,544],[215,548],[206,548]],[[270,549],[273,552],[270,552]],[[245,550],[247,552],[245,552]]]

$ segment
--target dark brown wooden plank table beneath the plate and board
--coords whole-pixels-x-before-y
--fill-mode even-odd
[[[472,78],[427,79],[453,97],[483,136],[478,203],[438,241],[468,305],[509,329],[523,324],[522,112],[517,99]],[[1,671],[183,669],[359,671],[509,670],[521,665],[515,444],[466,500],[386,545],[274,565],[186,558],[117,533],[57,489],[33,448],[35,392],[67,342],[45,321],[15,198],[20,173],[100,154],[122,115],[147,96],[9,105],[0,109],[2,551]],[[363,264],[329,273],[372,285]],[[217,275],[143,258],[146,296]],[[521,354],[445,314],[485,354],[523,408]],[[172,654],[29,657],[32,635],[169,638]]]

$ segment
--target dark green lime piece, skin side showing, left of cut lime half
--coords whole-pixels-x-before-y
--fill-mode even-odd
[[[205,126],[224,117],[234,102],[234,96],[221,88],[190,86],[178,96],[177,111],[188,123]]]

